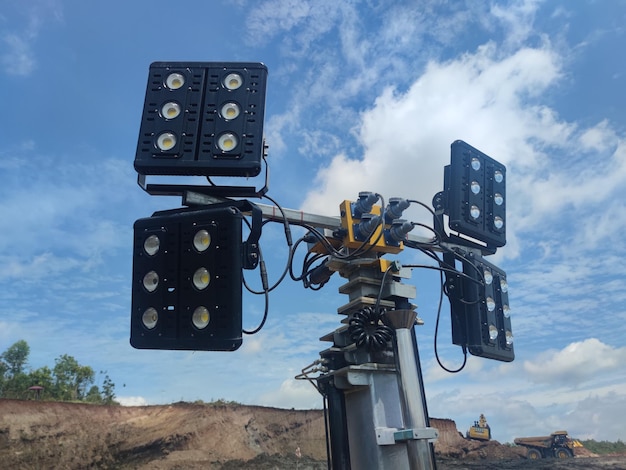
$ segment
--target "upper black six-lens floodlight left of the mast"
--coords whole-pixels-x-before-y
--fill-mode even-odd
[[[135,170],[144,177],[258,175],[266,83],[262,63],[154,62]]]

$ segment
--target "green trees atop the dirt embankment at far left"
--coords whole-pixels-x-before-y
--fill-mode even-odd
[[[19,340],[0,354],[0,398],[40,398],[44,400],[80,401],[117,404],[115,384],[104,375],[102,386],[95,385],[95,373],[76,359],[63,354],[54,367],[28,368],[30,346]],[[101,372],[103,374],[103,372]],[[31,387],[41,387],[33,390]]]

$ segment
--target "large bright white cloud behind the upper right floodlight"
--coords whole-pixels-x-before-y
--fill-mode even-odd
[[[442,189],[448,146],[458,138],[504,163],[532,166],[539,155],[528,139],[556,142],[568,132],[545,108],[524,104],[558,78],[558,57],[530,48],[498,55],[488,43],[457,60],[431,62],[406,93],[387,88],[362,114],[363,157],[339,154],[320,169],[319,189],[308,194],[304,208],[328,213],[334,201],[361,190],[430,203]]]

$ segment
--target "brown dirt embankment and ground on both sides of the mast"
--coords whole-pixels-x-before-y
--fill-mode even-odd
[[[439,430],[439,470],[626,469],[626,457],[615,458],[613,466],[595,458],[569,459],[569,466],[554,459],[528,461],[521,448],[464,439],[452,420],[432,419],[431,426]],[[579,461],[585,465],[574,465]],[[327,468],[324,417],[321,410],[256,406],[121,407],[0,399],[0,467],[322,470]]]

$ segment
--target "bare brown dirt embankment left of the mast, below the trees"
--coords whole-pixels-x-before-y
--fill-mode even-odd
[[[0,399],[2,468],[221,468],[261,454],[324,460],[320,410],[122,407]]]

